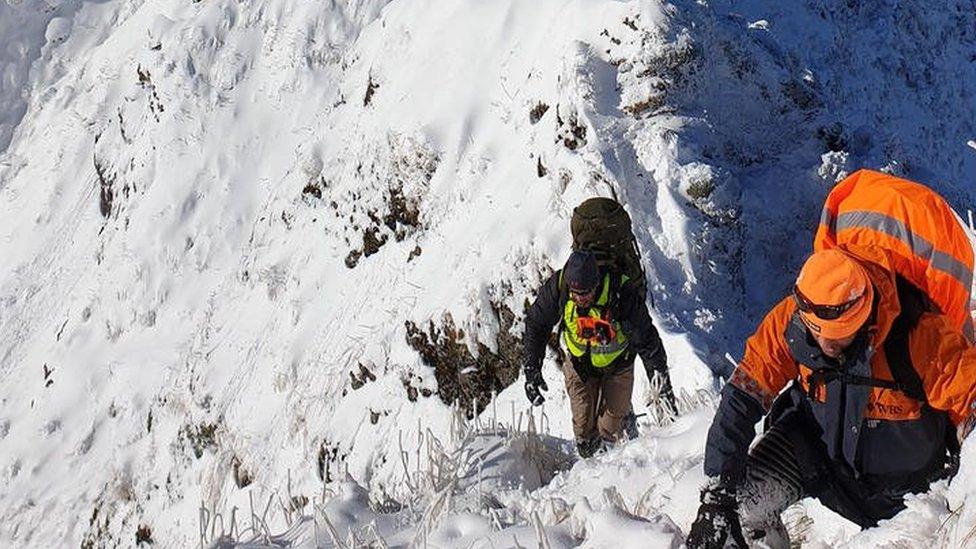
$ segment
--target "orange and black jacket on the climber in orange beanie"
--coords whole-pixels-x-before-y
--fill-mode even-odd
[[[945,316],[923,312],[907,332],[905,348],[927,404],[891,387],[896,380],[886,344],[896,335],[893,326],[901,313],[891,258],[876,247],[843,251],[864,266],[874,286],[866,335],[858,336],[857,349],[845,353],[843,361],[828,362],[799,320],[793,298],[777,304],[747,340],[727,387],[733,390],[722,393],[708,432],[705,474],[741,479],[752,427],[764,412],[775,412],[771,408],[778,396],[799,403],[815,423],[803,436],[819,439],[831,460],[846,463],[875,489],[904,493],[906,486],[931,478],[943,468],[952,428],[958,427],[962,436],[972,429],[976,349]],[[849,377],[827,381],[811,376],[824,366]],[[854,376],[884,380],[888,387],[858,383]],[[794,382],[796,387],[783,393]]]

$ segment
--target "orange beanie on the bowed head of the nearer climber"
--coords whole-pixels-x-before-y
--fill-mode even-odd
[[[860,263],[837,249],[807,258],[796,277],[796,289],[816,305],[844,305],[857,300],[836,319],[823,319],[815,311],[800,310],[810,330],[827,339],[844,339],[857,332],[871,314],[874,287]]]

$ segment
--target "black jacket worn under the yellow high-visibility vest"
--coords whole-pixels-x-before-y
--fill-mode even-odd
[[[563,308],[568,297],[560,292],[559,273],[560,271],[556,271],[546,280],[525,315],[522,368],[526,374],[541,370],[549,334],[557,323],[562,322]],[[581,359],[574,357],[573,363],[577,372],[586,377],[620,371],[633,364],[636,354],[641,357],[648,376],[653,372],[660,372],[665,375],[665,379],[668,379],[668,357],[661,343],[661,336],[657,333],[657,328],[654,327],[647,312],[647,304],[643,297],[637,288],[630,284],[623,284],[614,291],[617,292],[617,296],[612,302],[610,314],[620,322],[628,339],[628,350],[609,366],[599,369],[589,364],[589,355]]]

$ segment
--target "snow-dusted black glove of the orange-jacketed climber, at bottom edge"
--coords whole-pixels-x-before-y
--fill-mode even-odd
[[[688,549],[723,549],[726,541],[734,547],[747,549],[742,526],[739,524],[735,494],[722,485],[705,488],[698,507],[698,518],[691,525],[685,545]],[[731,538],[731,539],[730,539]]]

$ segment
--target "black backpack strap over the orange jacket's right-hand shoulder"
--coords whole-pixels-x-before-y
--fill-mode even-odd
[[[922,314],[928,310],[925,304],[925,295],[901,275],[895,276],[895,284],[898,288],[901,313],[891,325],[891,330],[885,338],[885,358],[888,359],[891,376],[901,386],[900,390],[909,397],[928,404],[928,398],[925,396],[925,389],[922,386],[922,378],[919,377],[918,371],[912,363],[911,350],[908,345],[908,335],[918,324]]]

